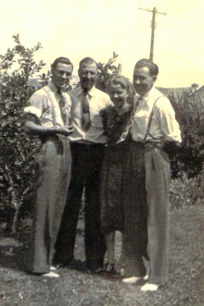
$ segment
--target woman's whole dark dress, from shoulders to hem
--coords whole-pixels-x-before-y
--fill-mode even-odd
[[[117,143],[130,120],[132,106],[118,115],[114,107],[105,114],[108,141],[101,167],[100,227],[103,233],[123,232],[124,175],[129,151],[128,137]]]

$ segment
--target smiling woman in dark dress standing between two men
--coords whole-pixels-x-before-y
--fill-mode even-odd
[[[124,132],[133,109],[134,90],[128,79],[114,75],[108,81],[107,91],[114,106],[104,114],[108,141],[101,168],[100,224],[107,246],[106,271],[114,271],[115,231],[123,232],[123,183],[129,147]]]

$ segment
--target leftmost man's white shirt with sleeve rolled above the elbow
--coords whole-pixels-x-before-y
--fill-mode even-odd
[[[65,122],[61,116],[61,110],[59,106],[60,99],[63,98],[64,106],[63,113],[65,114]],[[27,107],[24,108],[25,113],[35,115],[41,125],[51,126],[63,126],[69,124],[71,100],[67,93],[58,93],[56,86],[49,82],[48,85],[37,90],[28,100]]]

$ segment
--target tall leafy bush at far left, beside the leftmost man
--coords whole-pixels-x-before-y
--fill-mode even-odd
[[[1,55],[0,63],[0,210],[14,208],[18,212],[25,195],[32,191],[35,173],[32,161],[40,146],[38,138],[27,137],[23,132],[23,108],[34,92],[28,84],[29,79],[45,64],[42,61],[37,64],[33,59],[40,43],[25,48],[19,35],[13,38],[16,45]],[[16,217],[17,213],[15,220]]]

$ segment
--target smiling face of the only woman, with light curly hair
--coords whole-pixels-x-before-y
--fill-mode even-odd
[[[109,95],[114,107],[117,109],[121,109],[123,107],[128,96],[126,89],[122,88],[120,84],[111,84],[109,87]]]

